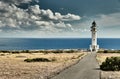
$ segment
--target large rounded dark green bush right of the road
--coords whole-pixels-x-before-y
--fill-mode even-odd
[[[100,65],[100,69],[105,71],[119,71],[120,70],[120,57],[106,58],[105,62]]]

